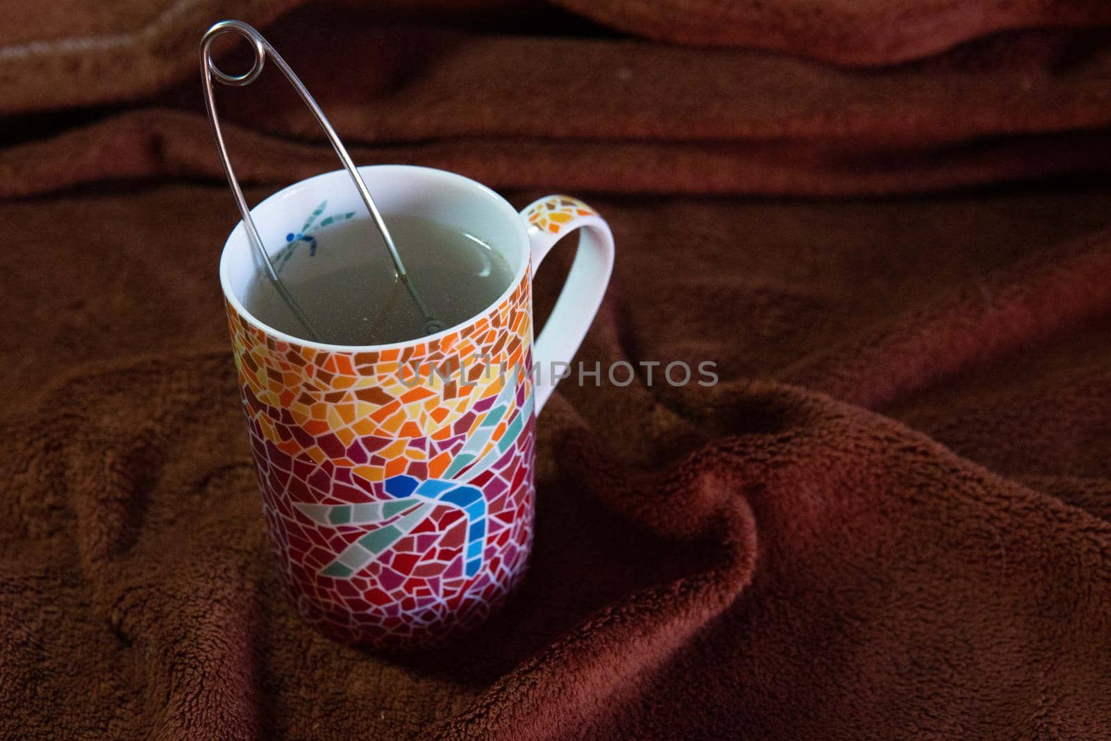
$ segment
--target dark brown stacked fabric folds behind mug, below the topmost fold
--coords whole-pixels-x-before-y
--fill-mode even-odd
[[[500,187],[923,192],[1105,172],[1111,157],[1103,36],[1078,47],[1068,33],[1014,34],[877,72],[754,51],[302,16],[267,33],[360,162],[442,167]],[[106,177],[219,178],[199,87],[193,73],[148,107],[52,138],[34,138],[29,119],[30,141],[0,151],[0,194]],[[218,93],[244,180],[291,182],[338,167],[278,72]],[[46,156],[59,150],[69,157]]]

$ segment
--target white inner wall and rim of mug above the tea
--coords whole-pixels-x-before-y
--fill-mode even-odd
[[[458,229],[484,241],[506,261],[513,273],[513,280],[497,300],[474,314],[476,317],[499,306],[521,282],[529,269],[528,231],[524,220],[501,196],[470,178],[432,168],[373,164],[360,167],[359,173],[382,216],[420,217]],[[347,170],[336,170],[284,188],[251,209],[251,217],[267,253],[273,257],[286,247],[287,236],[297,234],[304,224],[306,217],[322,201],[328,201],[329,213],[354,211],[357,214],[354,218],[366,219],[368,230],[376,234],[373,248],[386,249],[377,239],[370,214],[351,177]],[[247,229],[240,221],[228,237],[220,257],[220,284],[224,297],[236,311],[277,340],[326,350],[339,348],[349,350],[352,347],[293,337],[251,314],[246,307],[247,294],[256,276],[261,274],[261,270],[247,237]],[[472,319],[473,317],[468,318],[456,327],[467,324]],[[404,342],[364,346],[364,349],[378,350],[427,342],[453,329],[449,327],[443,332]]]

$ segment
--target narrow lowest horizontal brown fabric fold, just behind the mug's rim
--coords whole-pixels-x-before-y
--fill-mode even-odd
[[[339,167],[327,144],[226,126],[244,183],[288,184]],[[223,176],[208,122],[194,113],[121,113],[0,150],[0,196],[48,193],[116,178]],[[847,152],[841,144],[721,144],[479,139],[351,146],[358,162],[436,167],[499,188],[624,193],[872,196],[1111,171],[1105,131],[1015,137],[924,151]],[[50,157],[64,152],[64,157]]]

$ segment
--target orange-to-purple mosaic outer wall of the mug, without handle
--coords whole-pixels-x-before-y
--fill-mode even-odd
[[[402,349],[317,351],[231,304],[228,317],[263,512],[301,615],[374,645],[481,621],[532,542],[528,276],[469,326]]]

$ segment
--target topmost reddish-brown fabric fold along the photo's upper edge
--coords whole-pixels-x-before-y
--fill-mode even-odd
[[[560,27],[552,9],[536,0],[348,0],[340,9],[306,0],[111,0],[96,8],[8,0],[0,3],[0,106],[48,110],[150,94],[193,73],[197,39],[214,19],[239,18],[263,26],[302,4],[314,17],[361,10],[374,23],[447,13],[467,23],[508,20],[532,34]],[[769,49],[847,64],[907,61],[1012,29],[1111,22],[1111,8],[1101,0],[559,0],[559,4],[645,38]]]

